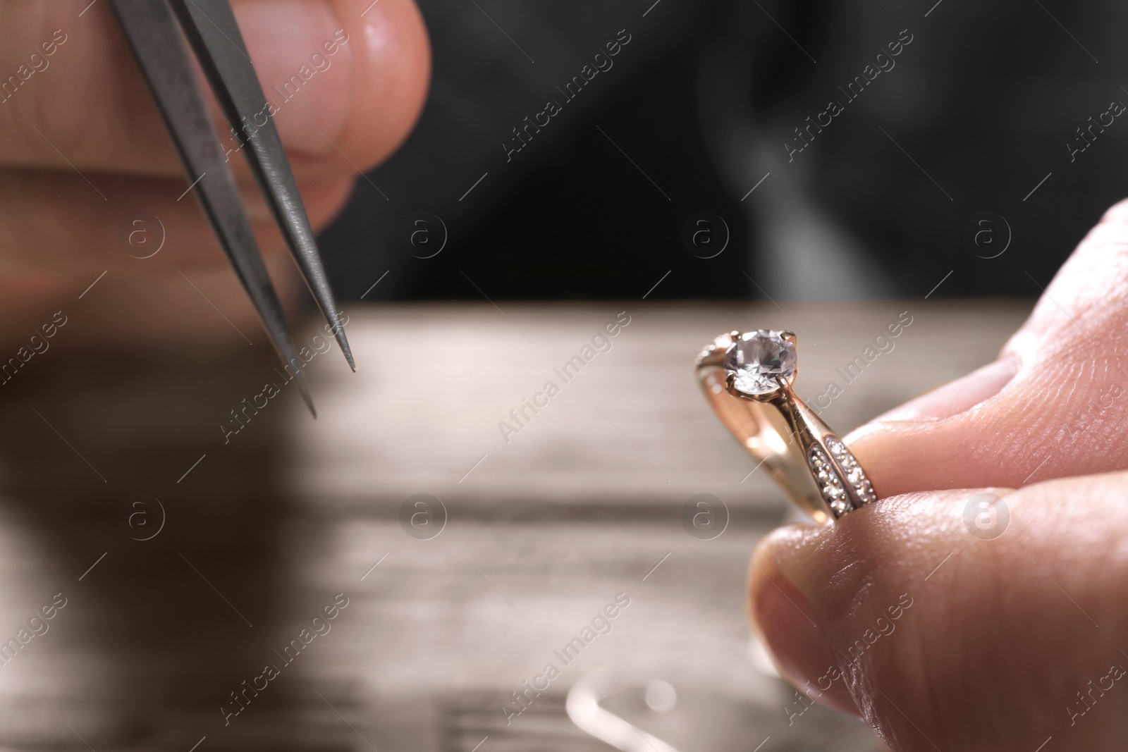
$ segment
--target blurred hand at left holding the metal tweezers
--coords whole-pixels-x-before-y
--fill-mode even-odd
[[[95,2],[83,12],[88,5],[0,5],[0,337],[24,339],[25,327],[34,333],[64,308],[104,337],[238,338],[185,276],[257,335],[254,311],[197,203],[178,201],[190,180],[109,5]],[[346,201],[358,168],[385,159],[418,116],[430,76],[418,10],[412,0],[233,6],[263,89],[279,105],[274,120],[310,220],[324,227]],[[325,43],[342,38],[335,54],[326,54]],[[311,62],[315,55],[319,62]],[[314,74],[284,99],[275,87],[303,65]],[[201,83],[208,91],[202,77]],[[213,114],[221,140],[235,149],[218,107]],[[230,165],[280,293],[301,290],[243,156],[232,151]],[[142,215],[158,216],[167,240],[156,256],[138,259],[120,238]]]

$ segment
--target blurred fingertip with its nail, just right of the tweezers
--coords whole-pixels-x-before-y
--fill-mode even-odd
[[[236,15],[296,169],[355,177],[407,138],[431,74],[413,0],[244,0]]]

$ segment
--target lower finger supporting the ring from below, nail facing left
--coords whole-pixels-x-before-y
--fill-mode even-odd
[[[777,530],[754,620],[796,688],[895,750],[1123,749],[1126,481],[911,494]]]

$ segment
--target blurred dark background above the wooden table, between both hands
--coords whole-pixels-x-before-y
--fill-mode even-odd
[[[1066,148],[1128,101],[1128,10],[1111,2],[420,6],[420,124],[323,238],[343,299],[623,299],[659,280],[649,299],[917,297],[942,278],[937,298],[1037,295],[1128,192],[1123,118],[1075,161]],[[614,67],[506,162],[511,129],[624,28]],[[846,99],[902,29],[896,67]],[[788,162],[783,143],[830,98],[845,112]],[[714,258],[681,240],[699,211],[731,233]],[[995,246],[964,241],[985,211],[1013,233],[995,258],[979,256],[1005,245],[997,221]],[[415,212],[446,227],[432,258],[400,241]]]

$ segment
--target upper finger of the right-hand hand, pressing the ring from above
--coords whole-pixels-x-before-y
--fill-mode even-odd
[[[1128,467],[1128,202],[1110,209],[1033,313],[978,371],[847,437],[879,492],[1020,487]],[[1046,284],[1031,278],[1034,285]],[[875,481],[876,485],[876,481]]]

